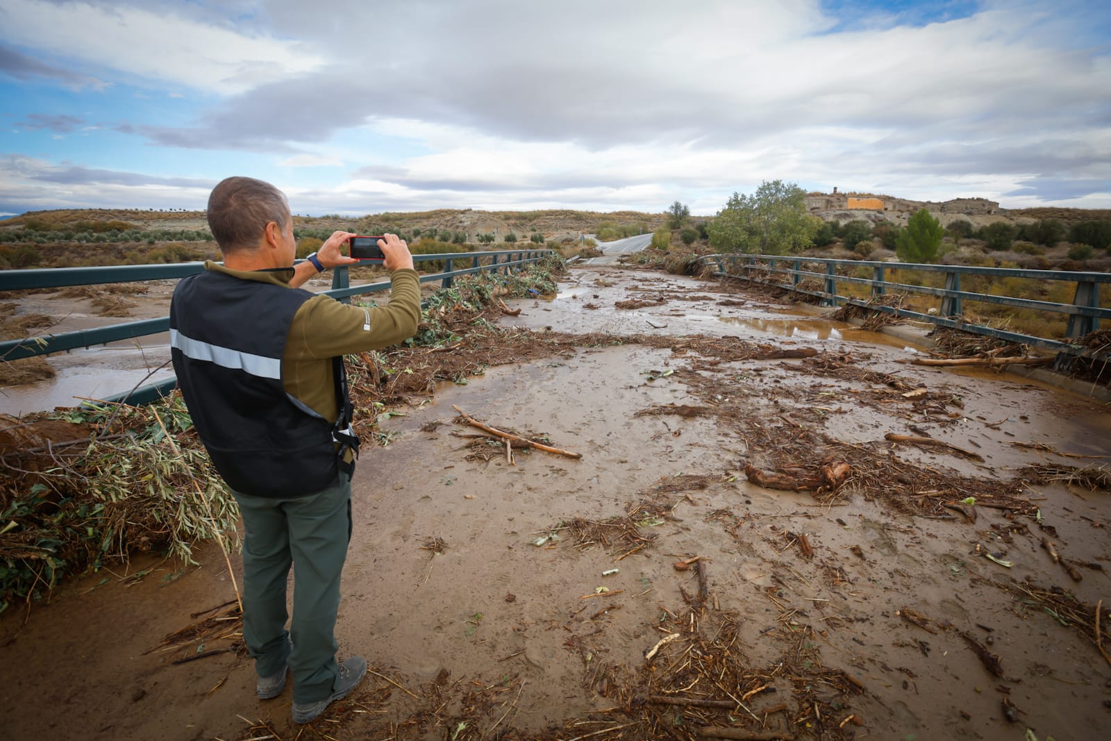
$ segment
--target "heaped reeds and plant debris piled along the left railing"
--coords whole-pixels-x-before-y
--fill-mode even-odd
[[[563,260],[551,258],[510,276],[481,273],[437,291],[420,329],[397,352],[349,359],[356,427],[364,440],[388,435],[376,427],[402,393],[427,392],[437,380],[466,382],[481,362],[429,347],[478,337],[501,312],[502,298],[553,293]],[[399,385],[399,381],[419,385]],[[88,408],[0,419],[0,612],[44,599],[64,577],[126,562],[136,552],[191,561],[198,541],[238,543],[238,509],[173,392],[146,407]]]

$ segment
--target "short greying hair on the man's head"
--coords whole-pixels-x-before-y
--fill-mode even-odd
[[[286,196],[262,180],[226,178],[209,194],[209,229],[224,253],[253,250],[268,223],[284,228],[290,218]]]

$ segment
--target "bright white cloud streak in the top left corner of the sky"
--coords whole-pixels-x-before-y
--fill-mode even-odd
[[[0,38],[63,59],[220,94],[307,72],[321,63],[299,41],[249,37],[172,10],[7,0]]]

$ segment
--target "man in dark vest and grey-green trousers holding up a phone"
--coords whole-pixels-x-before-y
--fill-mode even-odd
[[[340,573],[351,537],[351,430],[343,356],[417,331],[420,282],[404,241],[378,246],[390,271],[384,308],[363,309],[299,287],[337,266],[353,237],[336,231],[294,267],[286,197],[270,183],[228,178],[209,197],[223,264],[182,279],[170,307],[178,385],[212,463],[243,517],[243,640],[261,699],[293,677],[293,720],[307,723],[354,689],[362,657],[336,659]],[[293,617],[286,584],[293,568]]]

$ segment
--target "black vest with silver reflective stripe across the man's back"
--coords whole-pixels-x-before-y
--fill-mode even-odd
[[[178,388],[212,463],[234,491],[302,497],[334,485],[339,471],[354,467],[359,439],[343,359],[332,359],[336,420],[282,383],[290,323],[313,296],[212,270],[183,278],[173,291],[170,354]]]

